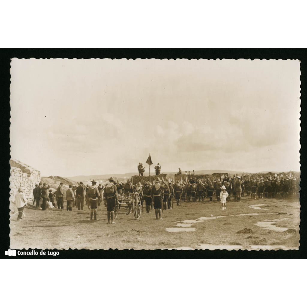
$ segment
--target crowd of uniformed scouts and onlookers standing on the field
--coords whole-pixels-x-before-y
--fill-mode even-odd
[[[159,163],[158,163],[159,165]],[[180,170],[180,169],[179,169]],[[194,172],[194,171],[193,171]],[[195,172],[194,172],[195,173]],[[46,208],[58,208],[64,210],[63,182],[52,192],[49,185],[40,182],[33,189],[33,206],[46,210]],[[205,177],[197,179],[195,175],[187,176],[185,180],[165,181],[159,177],[153,182],[143,181],[133,185],[128,179],[126,183],[116,180],[114,177],[103,186],[92,181],[92,185],[84,185],[81,181],[78,185],[69,185],[66,190],[66,210],[72,211],[73,207],[78,210],[84,209],[84,204],[90,209],[90,219],[97,220],[97,208],[104,200],[107,207],[108,223],[115,223],[115,210],[120,210],[120,199],[122,195],[138,192],[141,204],[145,201],[146,213],[155,209],[156,219],[162,220],[163,210],[172,208],[173,199],[177,206],[181,201],[220,201],[222,210],[226,209],[226,201],[240,201],[241,196],[256,198],[287,198],[297,194],[298,183],[293,175],[283,176],[221,176]],[[23,208],[27,200],[23,194],[23,188],[18,189],[15,195],[15,205],[18,209],[17,220],[22,220]]]

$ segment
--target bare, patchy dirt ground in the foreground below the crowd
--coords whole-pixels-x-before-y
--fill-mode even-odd
[[[249,207],[251,205],[259,205]],[[261,206],[260,206],[261,205]],[[66,207],[66,203],[65,203]],[[98,221],[90,211],[25,208],[25,217],[10,218],[11,249],[298,249],[300,203],[287,200],[182,202],[155,220],[144,210],[139,220],[119,211],[116,224],[107,224],[107,212],[98,207]],[[256,225],[257,224],[257,225]]]

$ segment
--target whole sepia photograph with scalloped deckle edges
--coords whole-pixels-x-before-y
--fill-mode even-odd
[[[10,65],[11,250],[299,249],[300,60]]]

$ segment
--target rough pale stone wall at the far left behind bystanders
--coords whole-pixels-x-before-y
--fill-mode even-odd
[[[41,181],[41,173],[18,160],[11,159],[10,165],[10,202],[14,201],[19,187],[24,188],[27,200],[33,202],[33,188]]]

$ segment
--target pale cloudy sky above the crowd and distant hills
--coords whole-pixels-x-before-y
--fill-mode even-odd
[[[161,172],[300,169],[298,60],[13,59],[10,72],[11,156],[43,176],[137,172],[149,153]]]

